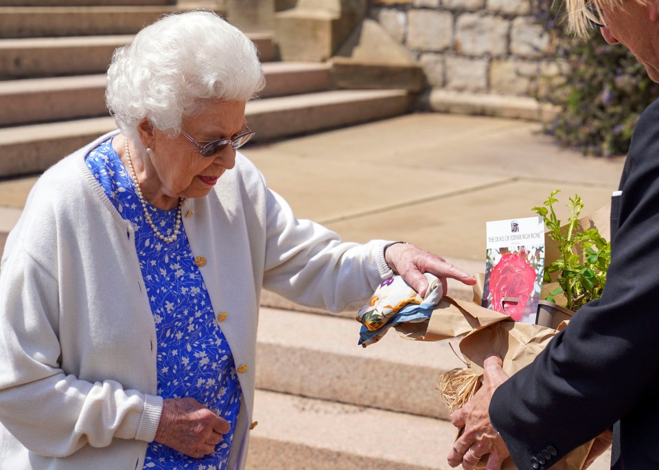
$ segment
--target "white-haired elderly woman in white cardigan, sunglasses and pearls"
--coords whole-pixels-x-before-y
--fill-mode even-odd
[[[236,152],[263,82],[210,12],[117,50],[119,131],[45,172],[5,247],[0,467],[240,469],[262,288],[338,310],[392,272],[420,293],[420,271],[471,283],[413,245],[295,219]]]

